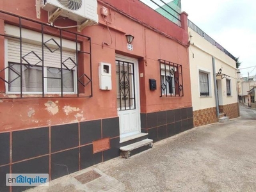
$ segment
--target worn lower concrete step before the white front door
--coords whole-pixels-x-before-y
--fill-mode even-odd
[[[135,154],[143,152],[144,150],[148,150],[153,147],[153,140],[145,139],[142,141],[138,141],[136,143],[132,143],[130,145],[126,145],[124,147],[120,147],[121,156],[124,158],[129,158]]]

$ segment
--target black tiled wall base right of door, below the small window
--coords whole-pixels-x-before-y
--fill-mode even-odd
[[[193,109],[183,108],[141,113],[141,132],[154,142],[193,128]]]

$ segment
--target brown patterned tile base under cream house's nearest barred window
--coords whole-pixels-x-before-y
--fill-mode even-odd
[[[195,127],[218,122],[218,118],[216,118],[216,108],[193,111],[193,116]]]

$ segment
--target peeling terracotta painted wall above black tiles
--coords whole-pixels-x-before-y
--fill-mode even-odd
[[[99,22],[102,24],[90,26],[83,30],[83,35],[92,38],[93,97],[74,99],[2,99],[0,100],[0,132],[117,116],[115,87],[116,53],[138,58],[140,73],[144,74],[140,78],[141,113],[191,107],[188,48],[185,46],[188,44],[188,31],[176,26],[158,13],[152,12],[140,1],[124,0],[119,4],[116,1],[106,2],[114,4],[122,12],[134,15],[137,20],[126,17],[127,15],[125,16],[120,10],[115,11],[111,9],[111,19],[113,21],[109,24],[109,29],[113,37],[113,44],[110,46],[104,45],[102,49],[102,42],[109,43],[111,38],[108,28],[106,28],[106,22],[100,16],[102,4],[99,3]],[[136,4],[135,7],[134,3]],[[111,8],[111,6],[105,3],[104,6]],[[134,9],[131,9],[131,7]],[[0,9],[39,20],[36,19],[34,0],[26,0],[22,1],[22,3],[14,0],[2,1]],[[141,10],[143,10],[143,14],[141,14]],[[158,19],[148,19],[149,16],[154,18],[152,14]],[[184,20],[187,22],[186,14],[182,18],[185,18]],[[3,15],[0,15],[0,30],[4,28],[3,19],[8,20],[7,17],[3,18]],[[146,22],[148,26],[141,25],[138,23],[138,20]],[[47,22],[47,12],[44,10],[41,10],[40,21]],[[67,25],[76,24],[72,21],[67,22]],[[59,26],[64,25],[61,20],[58,20],[57,24]],[[183,27],[186,28],[186,25]],[[76,28],[70,30],[76,31]],[[163,30],[165,35],[160,35],[156,30]],[[135,37],[132,42],[133,51],[127,50],[125,33]],[[0,49],[4,50],[2,37],[0,37],[0,46]],[[1,51],[0,54],[0,68],[3,68],[3,52]],[[159,63],[157,60],[160,58],[182,65],[184,97],[159,97],[161,86]],[[113,90],[99,90],[98,67],[100,61],[112,64]],[[150,78],[157,80],[156,91],[149,90],[148,79]]]

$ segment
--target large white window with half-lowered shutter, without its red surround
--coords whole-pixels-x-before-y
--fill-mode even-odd
[[[48,93],[74,94],[76,89],[76,53],[62,51],[54,52],[44,47],[44,67],[42,66],[42,49],[35,44],[22,42],[22,63],[20,63],[19,41],[6,40],[8,79],[7,93],[41,94]],[[49,47],[49,45],[48,45]],[[33,52],[31,52],[33,50]],[[65,66],[61,68],[61,57]],[[42,76],[44,74],[44,80]],[[43,82],[44,81],[44,84]],[[61,83],[62,81],[62,83]],[[22,84],[21,84],[22,83]],[[20,86],[21,84],[21,86]],[[44,87],[43,87],[44,86]]]

